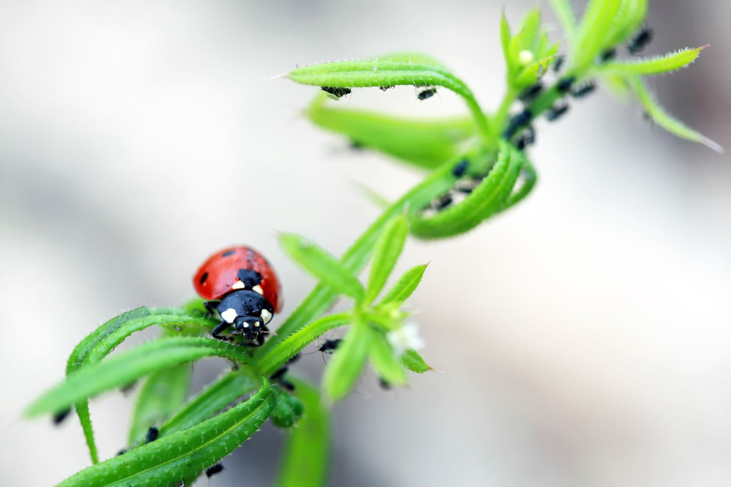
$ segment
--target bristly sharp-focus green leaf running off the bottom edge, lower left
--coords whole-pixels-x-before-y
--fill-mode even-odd
[[[57,487],[172,486],[238,448],[260,429],[273,406],[267,384],[215,418],[83,469]]]

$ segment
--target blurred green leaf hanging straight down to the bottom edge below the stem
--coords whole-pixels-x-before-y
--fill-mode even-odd
[[[305,412],[296,428],[289,429],[284,442],[284,456],[279,466],[278,487],[320,487],[327,481],[327,457],[330,453],[330,418],[317,388],[291,375],[295,396],[303,402]]]

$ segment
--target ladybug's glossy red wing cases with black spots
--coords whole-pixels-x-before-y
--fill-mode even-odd
[[[272,305],[274,312],[280,312],[284,303],[281,299],[279,277],[267,259],[256,250],[243,245],[214,253],[196,272],[193,285],[203,299],[221,299],[230,291],[246,288],[245,281],[247,277],[255,275],[253,273],[261,276],[259,285],[264,299]]]

